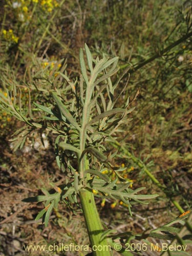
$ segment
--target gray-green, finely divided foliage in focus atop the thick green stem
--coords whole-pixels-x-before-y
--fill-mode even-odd
[[[56,161],[62,172],[67,174],[66,185],[63,185],[62,191],[59,193],[50,195],[47,191],[45,196],[30,198],[27,201],[45,201],[45,206],[48,207],[50,204],[48,207],[50,209],[50,207],[56,207],[59,200],[65,200],[66,203],[77,202],[77,194],[83,187],[91,191],[96,189],[99,191],[98,196],[100,197],[122,200],[129,206],[131,214],[132,203],[130,200],[141,203],[141,200],[153,199],[157,195],[138,195],[143,188],[136,190],[129,188],[131,183],[124,180],[119,174],[123,169],[112,165],[111,160],[115,153],[110,157],[104,156],[105,143],[112,140],[112,135],[123,132],[120,125],[131,120],[129,114],[134,110],[134,108],[130,108],[129,98],[125,100],[121,108],[115,106],[126,89],[128,81],[118,96],[114,94],[115,89],[128,69],[113,83],[112,76],[119,70],[118,57],[93,59],[87,45],[85,45],[85,52],[86,59],[84,59],[83,50],[80,49],[82,74],[80,81],[77,79],[71,81],[67,73],[62,72],[59,74],[60,78],[56,77],[57,81],[59,79],[62,81],[58,82],[57,86],[55,81],[51,80],[52,77],[49,77],[49,82],[54,89],[49,86],[50,92],[44,90],[52,104],[50,102],[46,104],[34,102],[35,107],[44,113],[41,115],[41,120],[35,119],[34,121],[32,118],[29,120],[22,114],[22,109],[17,110],[15,100],[13,104],[10,104],[11,100],[2,96],[2,103],[6,105],[5,107],[16,113],[20,120],[23,119],[33,129],[35,127],[43,128],[42,121],[45,120],[46,129],[58,134],[55,140]],[[44,74],[40,72],[35,76],[35,80],[38,79],[46,80]],[[34,85],[39,88],[39,84]],[[16,87],[13,86],[13,92],[15,91]],[[15,95],[16,93],[13,94],[14,97],[16,97]],[[8,102],[4,102],[5,100]],[[89,168],[85,166],[89,166]],[[112,168],[117,179],[111,181],[107,175],[102,174],[104,166]],[[47,224],[50,210],[46,212],[45,209],[42,210],[37,219],[43,214],[46,214],[45,222]]]

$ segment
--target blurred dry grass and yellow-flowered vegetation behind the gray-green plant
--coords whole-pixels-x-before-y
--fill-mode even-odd
[[[29,119],[31,109],[36,113],[33,120],[39,118],[33,102],[49,102],[49,91],[66,65],[63,59],[69,76],[79,76],[78,53],[84,42],[94,56],[119,56],[120,71],[130,66],[129,86],[118,104],[130,96],[136,109],[125,132],[118,134],[119,143],[108,150],[118,148],[114,165],[127,167],[124,177],[133,181],[134,188],[144,186],[146,194],[160,197],[148,205],[135,205],[133,217],[121,202],[98,199],[104,224],[138,233],[163,225],[182,208],[190,209],[191,1],[7,0],[2,6],[0,90],[11,99],[7,89],[17,84],[20,109]],[[153,61],[147,62],[150,58]],[[122,88],[126,80],[121,81]],[[80,208],[71,206],[74,215],[60,204],[45,228],[33,221],[42,205],[21,202],[41,187],[51,189],[65,180],[55,163],[56,135],[26,129],[6,109],[0,109],[0,121],[2,255],[27,255],[23,244],[88,244]]]

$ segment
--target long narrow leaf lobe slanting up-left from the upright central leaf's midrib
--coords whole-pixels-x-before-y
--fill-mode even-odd
[[[63,105],[63,103],[61,102],[61,100],[59,99],[59,97],[57,96],[56,93],[52,93],[53,98],[55,100],[55,102],[57,103],[57,106],[60,110],[60,112],[63,114],[63,116],[66,117],[66,119],[78,130],[81,131],[81,128],[79,127],[78,123],[75,121],[75,119],[73,118],[73,116],[71,115],[71,113],[69,112],[69,110],[66,108],[65,105]]]

